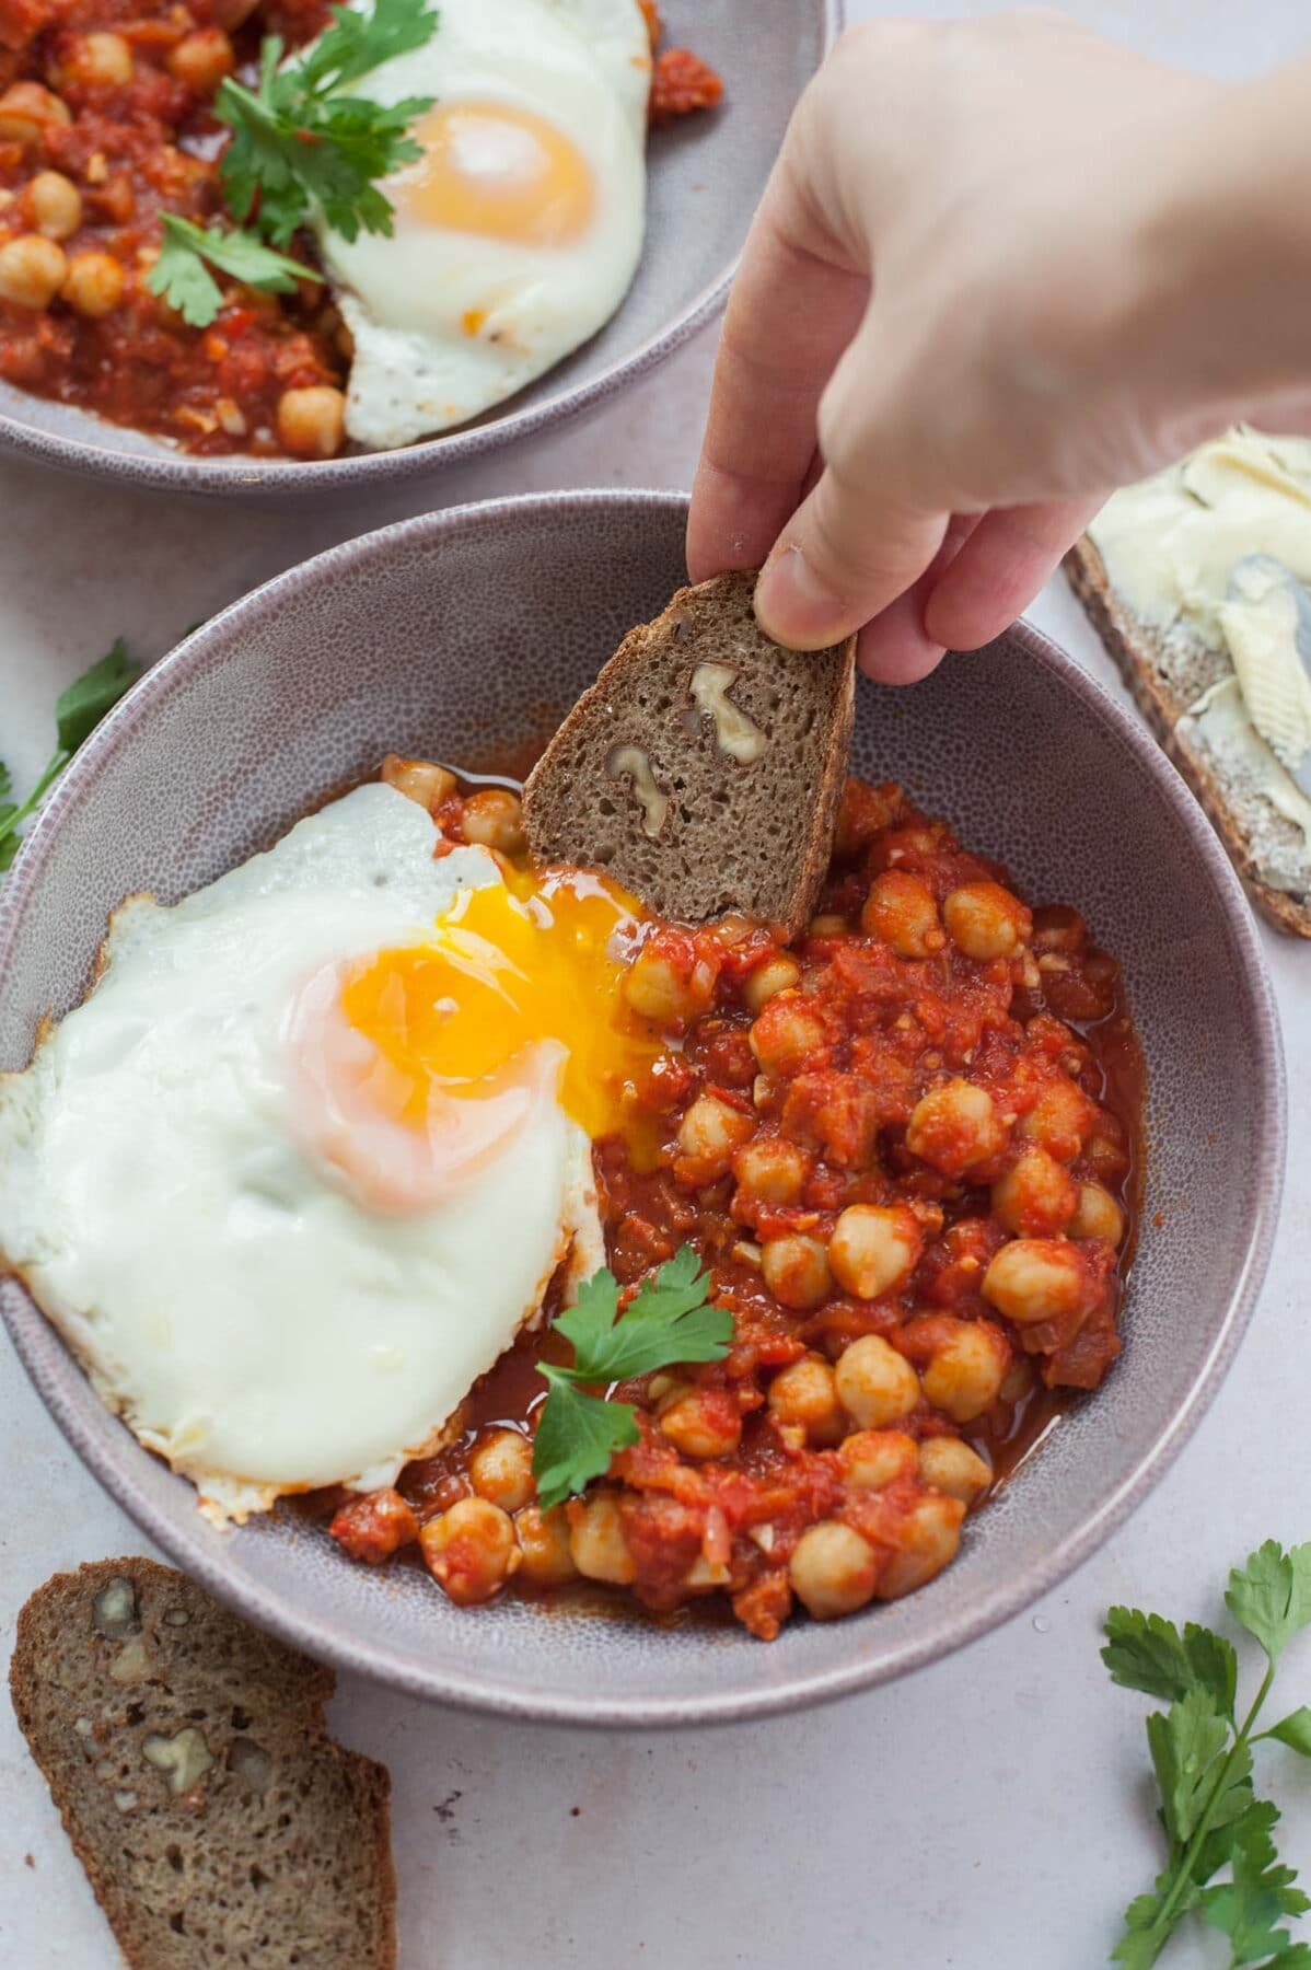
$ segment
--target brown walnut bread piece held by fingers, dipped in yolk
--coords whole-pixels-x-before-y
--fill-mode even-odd
[[[624,636],[530,774],[524,825],[539,861],[600,867],[659,916],[742,910],[795,934],[833,849],[854,638],[781,650],[754,587],[679,589]]]

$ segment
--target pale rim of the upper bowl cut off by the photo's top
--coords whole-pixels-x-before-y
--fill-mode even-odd
[[[817,8],[823,61],[846,24],[846,0],[817,0]],[[167,445],[159,445],[156,451],[116,451],[110,445],[96,443],[93,437],[47,431],[39,424],[0,410],[0,457],[28,459],[33,465],[45,465],[53,471],[140,487],[148,492],[185,492],[195,498],[218,500],[295,502],[297,498],[313,500],[344,492],[368,492],[384,485],[413,485],[435,479],[451,467],[470,465],[474,459],[482,459],[502,445],[565,426],[585,410],[606,404],[620,390],[628,388],[630,382],[648,376],[665,357],[671,357],[715,319],[732,286],[738,260],[740,252],[732,254],[663,329],[650,335],[630,355],[618,357],[598,376],[555,390],[539,404],[510,410],[506,416],[492,414],[488,422],[437,433],[413,445],[396,445],[388,451],[360,451],[343,459],[291,461],[256,459],[234,453],[230,459],[217,461],[193,457],[185,451],[169,451]],[[49,398],[31,396],[31,392],[16,394],[33,406],[51,402]],[[85,422],[89,429],[102,426],[108,433],[118,429],[136,431],[134,426],[116,426],[91,412],[85,414]],[[136,431],[136,435],[150,437],[148,431]]]

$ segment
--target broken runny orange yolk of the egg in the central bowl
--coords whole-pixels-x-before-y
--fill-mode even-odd
[[[543,1101],[650,1164],[654,1123],[632,1097],[663,1042],[622,993],[640,922],[598,877],[508,869],[423,944],[317,971],[287,1022],[307,1147],[378,1212],[455,1196]]]

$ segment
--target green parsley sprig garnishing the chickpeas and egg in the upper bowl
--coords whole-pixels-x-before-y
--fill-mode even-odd
[[[215,116],[232,130],[218,177],[236,227],[197,227],[165,215],[163,248],[148,276],[152,292],[191,327],[209,327],[222,305],[209,268],[268,294],[319,280],[278,250],[313,209],[346,240],[392,232],[392,203],[376,181],[419,156],[409,126],[433,98],[382,104],[343,91],[394,55],[423,47],[437,14],[427,0],[374,0],[368,14],[331,14],[333,26],[299,61],[283,65],[283,41],[272,33],[260,47],[256,87],[230,75],[218,87]]]

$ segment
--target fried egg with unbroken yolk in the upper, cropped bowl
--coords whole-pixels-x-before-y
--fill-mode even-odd
[[[642,254],[650,67],[638,0],[441,0],[423,47],[350,85],[433,98],[382,183],[394,234],[317,227],[356,443],[465,424],[608,321]]]

